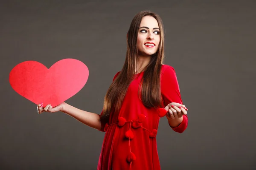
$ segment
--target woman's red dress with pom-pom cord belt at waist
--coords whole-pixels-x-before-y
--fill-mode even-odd
[[[146,108],[139,99],[138,89],[143,72],[135,76],[128,87],[119,115],[110,116],[109,123],[102,124],[101,131],[106,133],[97,170],[160,170],[156,141],[160,117],[157,109]],[[171,102],[182,104],[173,67],[162,66],[160,87],[164,106]],[[182,133],[187,123],[187,116],[183,115],[181,124],[172,129]]]

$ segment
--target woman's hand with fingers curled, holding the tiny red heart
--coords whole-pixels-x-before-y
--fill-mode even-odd
[[[185,105],[175,102],[168,104],[164,109],[168,111],[166,116],[170,119],[178,119],[183,114],[186,115],[188,111]]]

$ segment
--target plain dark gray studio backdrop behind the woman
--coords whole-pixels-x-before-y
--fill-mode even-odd
[[[255,0],[1,1],[1,169],[96,170],[105,133],[61,112],[39,115],[12,89],[9,72],[27,60],[49,68],[79,59],[89,79],[66,102],[100,113],[142,10],[163,19],[164,63],[175,68],[189,109],[181,134],[160,119],[162,169],[256,169]]]

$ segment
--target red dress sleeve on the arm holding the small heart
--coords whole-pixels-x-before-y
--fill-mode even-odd
[[[175,69],[171,66],[167,66],[161,76],[161,94],[163,97],[164,107],[172,102],[183,104],[180,96],[180,88],[177,81]],[[178,125],[177,127],[172,127],[172,130],[174,130],[175,132],[182,133],[184,130],[186,130],[186,127],[188,125],[188,117],[187,115],[182,116],[183,121],[180,123],[180,125]]]

